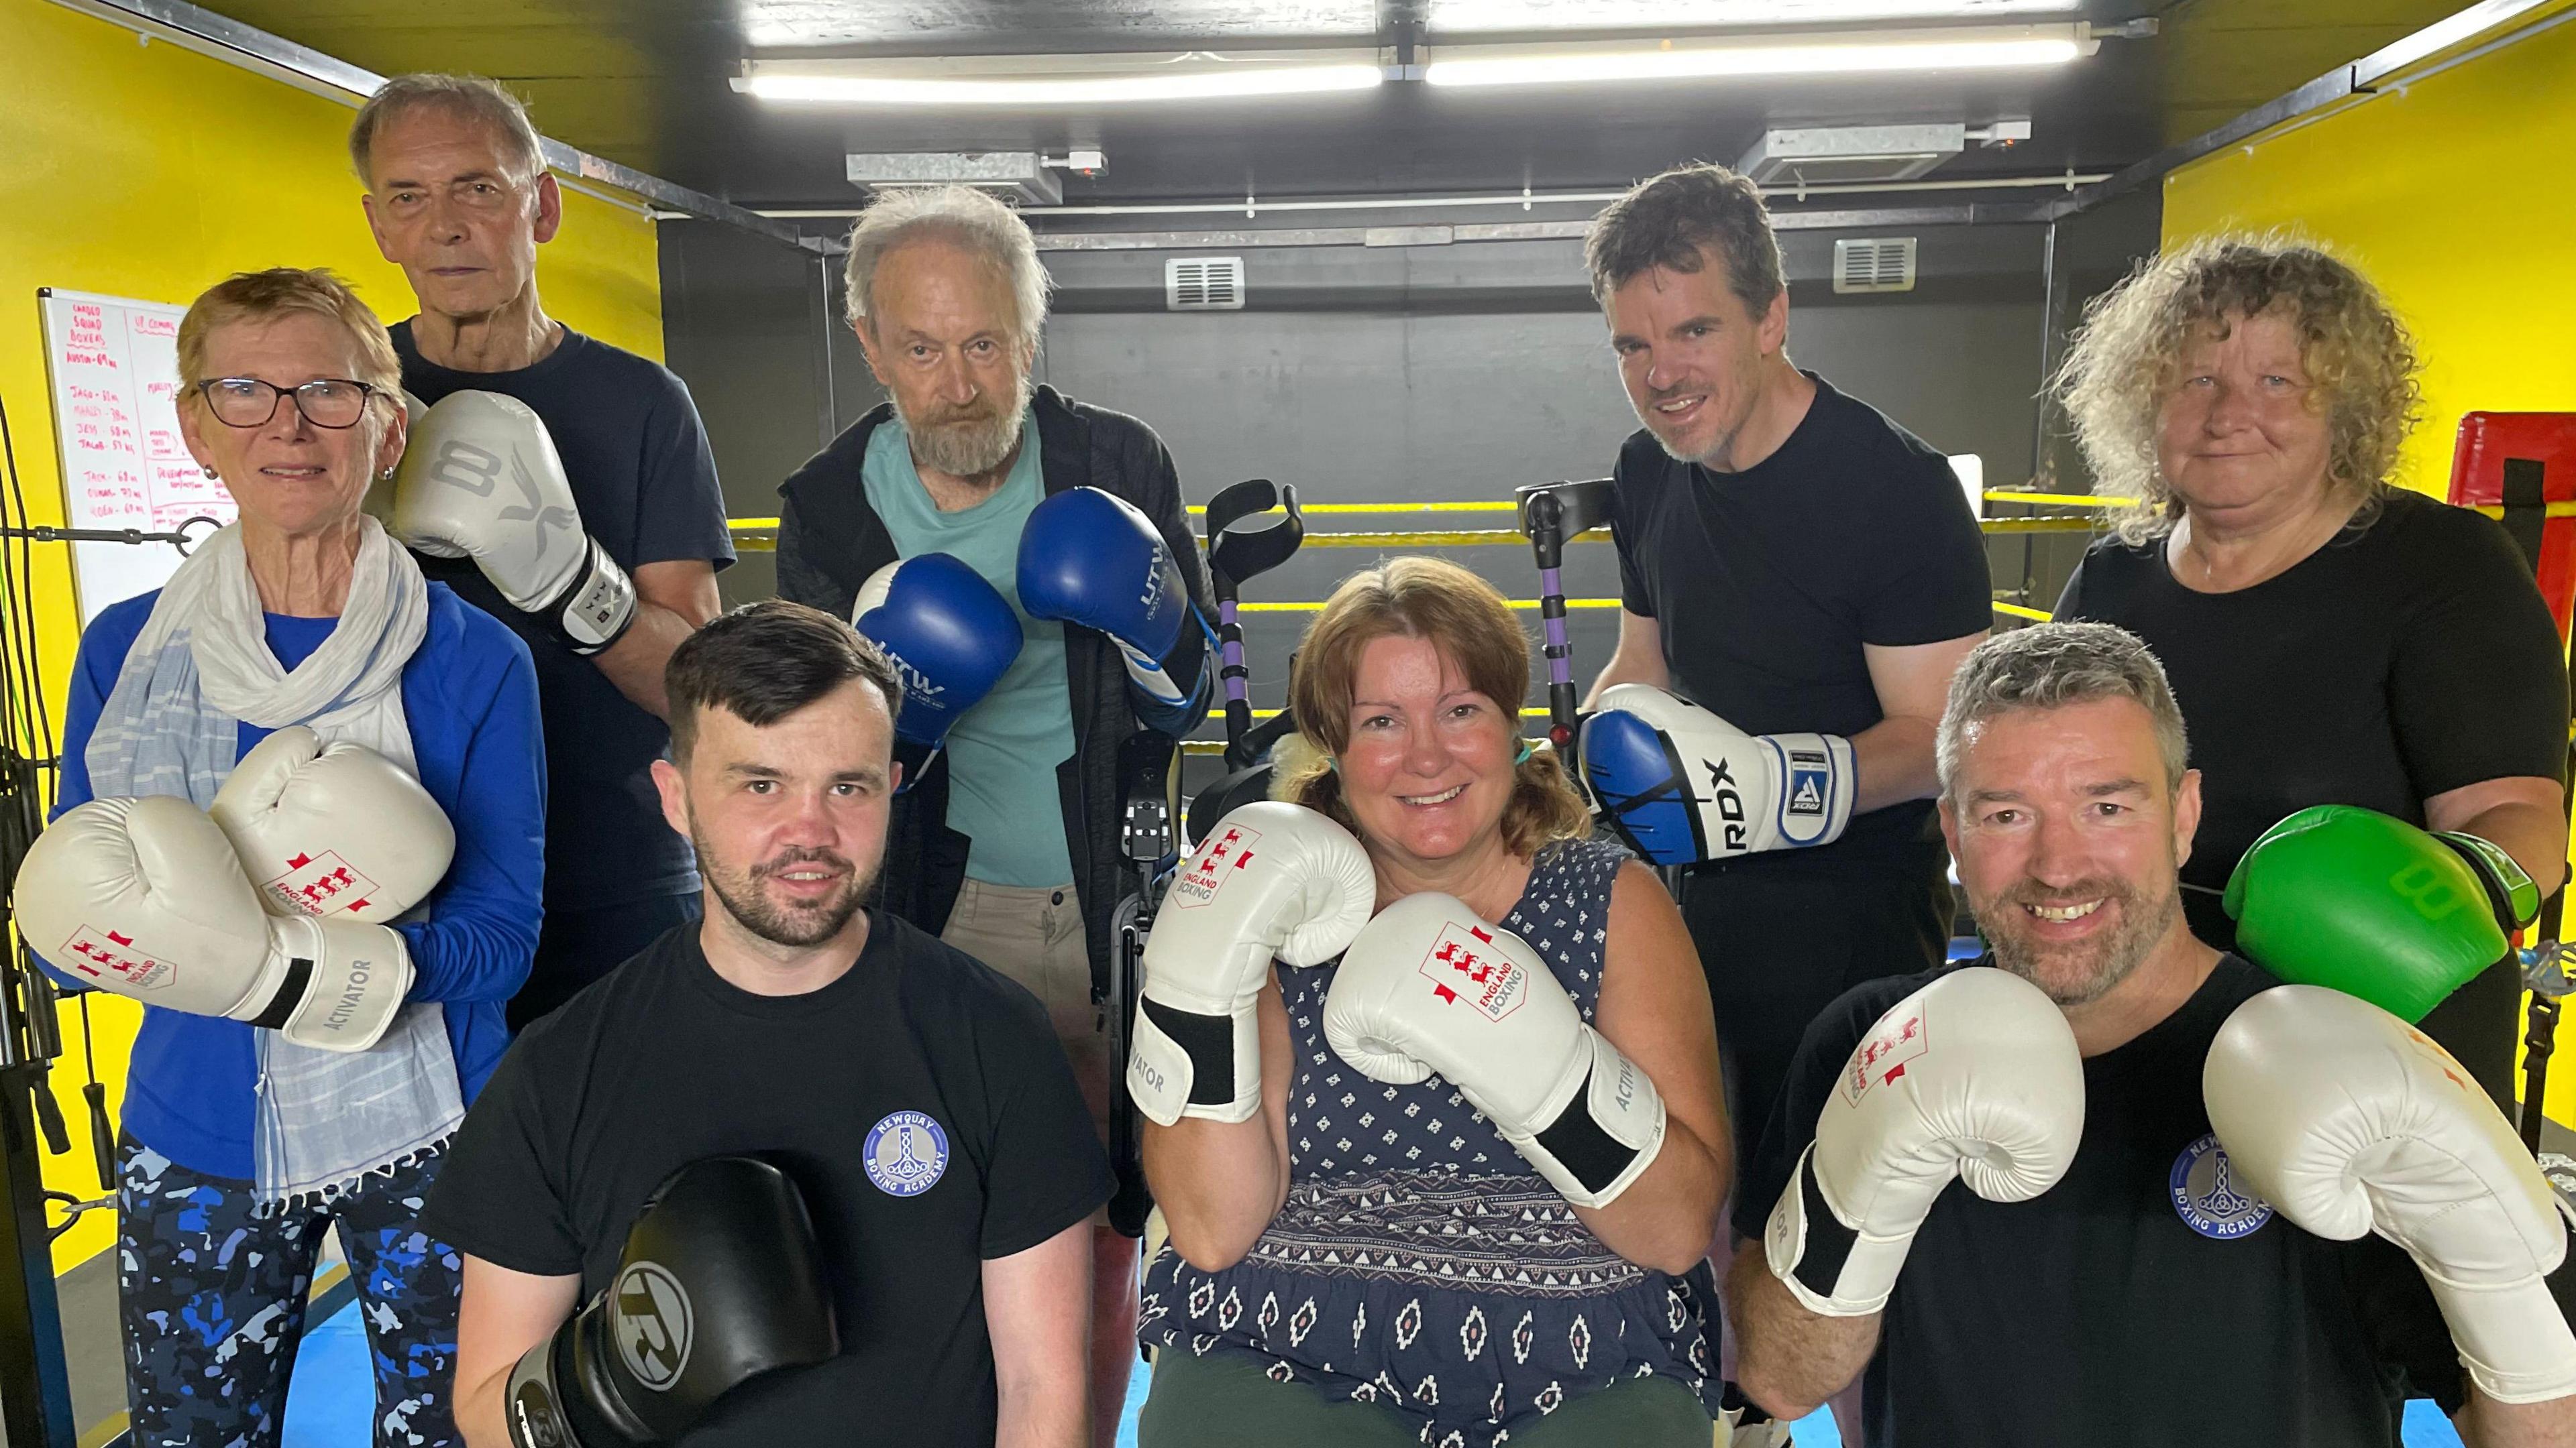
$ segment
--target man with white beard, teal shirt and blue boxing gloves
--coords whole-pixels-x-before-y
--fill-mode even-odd
[[[1036,237],[979,191],[860,214],[850,327],[889,402],[778,490],[778,593],[850,618],[904,675],[886,907],[1046,1002],[1105,1134],[1126,1110],[1103,1013],[1118,750],[1206,716],[1213,600],[1154,430],[1033,384],[1046,294]],[[1105,1448],[1136,1242],[1103,1219],[1095,1252]]]

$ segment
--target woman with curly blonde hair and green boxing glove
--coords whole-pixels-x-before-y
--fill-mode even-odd
[[[2313,804],[2488,840],[2537,884],[2524,899],[2558,884],[2558,631],[2504,528],[2391,484],[2416,371],[2357,268],[2226,234],[2097,299],[2058,374],[2094,487],[2138,502],[2056,613],[2164,660],[2202,776],[2184,910],[2223,951],[2236,861]],[[2506,1108],[2517,992],[2506,961],[2424,1018]]]

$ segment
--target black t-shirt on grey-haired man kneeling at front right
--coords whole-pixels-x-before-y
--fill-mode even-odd
[[[1762,1239],[1852,1049],[1937,974],[1868,982],[1808,1025],[1736,1232]],[[2406,1396],[2460,1407],[2450,1329],[2403,1252],[2221,1193],[2200,1067],[2275,984],[2223,956],[2174,1015],[2089,1056],[2084,1141],[2038,1198],[1942,1190],[1880,1322],[1870,1448],[2396,1448]],[[2550,1283],[2561,1304],[2571,1275]]]

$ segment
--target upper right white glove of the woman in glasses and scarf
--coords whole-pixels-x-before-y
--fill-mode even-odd
[[[456,827],[417,778],[301,724],[242,755],[209,814],[270,915],[379,925],[428,899],[456,855]]]

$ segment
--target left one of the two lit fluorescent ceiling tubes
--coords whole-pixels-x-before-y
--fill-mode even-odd
[[[734,90],[842,106],[1118,106],[1316,95],[1386,82],[1373,49],[1059,54],[943,59],[752,59]]]

